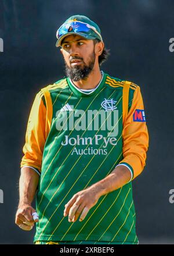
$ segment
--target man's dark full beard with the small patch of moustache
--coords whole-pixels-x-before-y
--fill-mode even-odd
[[[75,58],[74,59],[78,59]],[[95,54],[93,52],[89,65],[84,65],[82,68],[80,66],[69,67],[67,63],[65,63],[65,72],[68,77],[70,77],[73,81],[86,80],[89,76],[90,72],[93,70],[93,66],[95,65]]]

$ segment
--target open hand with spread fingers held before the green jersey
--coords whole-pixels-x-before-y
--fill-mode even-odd
[[[90,208],[96,205],[99,200],[99,194],[95,188],[89,188],[74,194],[70,201],[67,202],[64,209],[64,216],[68,215],[68,221],[75,222],[81,214],[79,221],[83,221]]]

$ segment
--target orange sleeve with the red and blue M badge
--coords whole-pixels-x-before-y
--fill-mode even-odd
[[[143,98],[137,86],[122,131],[123,156],[118,165],[125,165],[131,172],[131,180],[143,171],[148,149],[148,130],[144,113]],[[130,181],[131,181],[130,180]]]

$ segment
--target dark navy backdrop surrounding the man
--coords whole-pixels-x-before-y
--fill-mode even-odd
[[[102,70],[141,88],[150,145],[133,181],[140,243],[174,243],[173,61],[174,2],[165,0],[0,0],[0,243],[32,243],[34,230],[14,224],[20,161],[35,94],[64,76],[56,30],[69,16],[97,22],[111,55]]]

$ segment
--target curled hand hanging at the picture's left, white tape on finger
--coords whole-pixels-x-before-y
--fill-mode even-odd
[[[34,208],[31,207],[30,204],[22,204],[19,205],[16,212],[15,223],[21,229],[30,231],[32,227],[34,227],[34,223],[38,222],[38,219],[32,218],[32,214],[36,212]]]

